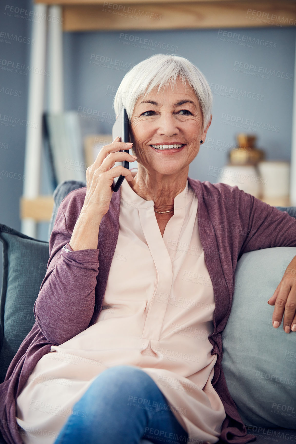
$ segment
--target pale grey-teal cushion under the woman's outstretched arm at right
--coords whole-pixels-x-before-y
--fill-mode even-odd
[[[296,333],[285,333],[283,323],[273,328],[267,303],[294,256],[296,248],[268,248],[237,263],[222,367],[245,424],[296,428]]]

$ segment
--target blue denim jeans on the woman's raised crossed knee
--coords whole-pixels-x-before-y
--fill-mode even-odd
[[[104,370],[73,407],[55,444],[186,443],[188,433],[152,378],[132,365]]]

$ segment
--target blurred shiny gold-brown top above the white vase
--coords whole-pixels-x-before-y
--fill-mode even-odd
[[[240,133],[236,139],[238,147],[229,152],[231,165],[256,165],[264,160],[264,151],[255,148],[256,135]]]

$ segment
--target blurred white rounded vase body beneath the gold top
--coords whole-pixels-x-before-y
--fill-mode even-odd
[[[240,190],[252,194],[256,198],[261,196],[260,181],[258,172],[254,165],[226,165],[218,171],[217,182],[226,183],[230,186],[238,186]]]

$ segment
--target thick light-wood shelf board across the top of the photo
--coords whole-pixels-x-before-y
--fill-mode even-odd
[[[260,28],[296,25],[290,1],[186,1],[64,5],[64,31]]]

